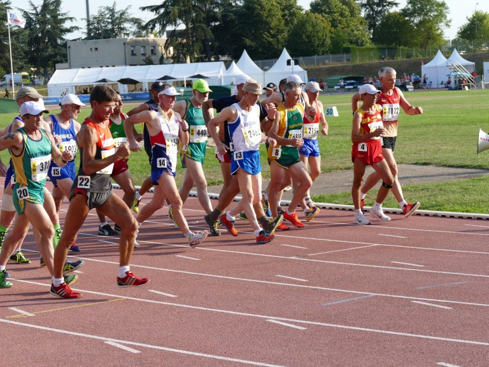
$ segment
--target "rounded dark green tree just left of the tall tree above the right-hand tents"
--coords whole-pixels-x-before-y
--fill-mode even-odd
[[[389,12],[378,25],[372,38],[375,44],[413,46],[415,30],[412,23],[401,12]]]

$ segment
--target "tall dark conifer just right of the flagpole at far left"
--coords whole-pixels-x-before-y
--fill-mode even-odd
[[[78,30],[77,26],[66,26],[75,21],[68,13],[61,12],[61,0],[43,0],[40,6],[29,1],[30,11],[21,10],[26,20],[27,49],[29,64],[47,75],[56,63],[67,62],[65,36]]]

